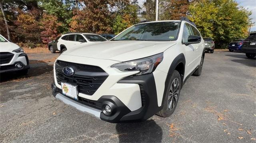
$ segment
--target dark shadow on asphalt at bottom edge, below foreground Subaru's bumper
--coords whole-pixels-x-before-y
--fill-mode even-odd
[[[118,123],[116,131],[120,143],[159,143],[162,141],[162,129],[154,120],[136,123]]]

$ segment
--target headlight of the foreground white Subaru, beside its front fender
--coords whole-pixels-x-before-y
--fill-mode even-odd
[[[140,71],[135,75],[149,74],[153,72],[156,69],[156,67],[162,62],[163,57],[163,53],[160,53],[142,59],[118,63],[112,65],[111,67],[115,67],[116,69],[119,69],[123,72]]]

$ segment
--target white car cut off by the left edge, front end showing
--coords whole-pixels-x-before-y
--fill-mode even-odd
[[[0,35],[0,73],[27,74],[29,68],[28,56],[23,49]]]

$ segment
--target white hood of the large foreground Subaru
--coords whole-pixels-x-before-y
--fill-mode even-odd
[[[106,41],[79,46],[63,55],[130,61],[162,53],[175,44],[175,41]]]

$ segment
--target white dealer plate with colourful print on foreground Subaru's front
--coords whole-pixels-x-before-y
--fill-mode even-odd
[[[68,84],[68,83],[61,83],[61,87],[62,87],[62,94],[69,96],[71,98],[74,99],[78,99],[77,98],[77,86]]]

